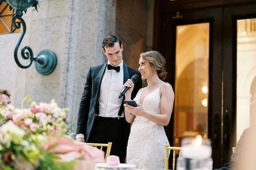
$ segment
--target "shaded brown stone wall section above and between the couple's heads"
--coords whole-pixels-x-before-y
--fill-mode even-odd
[[[117,0],[116,35],[123,42],[123,60],[138,69],[140,53],[152,50],[154,0]]]

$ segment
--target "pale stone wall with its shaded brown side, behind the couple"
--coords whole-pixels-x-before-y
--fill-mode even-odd
[[[20,49],[28,45],[34,55],[52,50],[57,55],[57,67],[48,76],[38,74],[34,63],[30,68],[19,68],[13,51],[20,33],[2,34],[0,88],[11,91],[15,107],[20,107],[26,95],[36,102],[55,99],[60,107],[70,108],[69,122],[76,125],[87,71],[106,61],[101,49],[103,38],[119,36],[124,44],[124,61],[137,69],[139,54],[152,44],[148,41],[153,37],[153,18],[148,15],[152,15],[153,2],[40,0],[38,12],[29,8],[23,16],[27,32]]]

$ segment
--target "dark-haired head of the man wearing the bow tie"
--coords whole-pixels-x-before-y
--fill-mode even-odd
[[[102,41],[102,51],[113,66],[121,63],[123,44],[118,37],[114,35],[106,36]]]

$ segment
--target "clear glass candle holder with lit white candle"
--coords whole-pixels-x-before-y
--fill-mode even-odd
[[[177,170],[212,170],[211,143],[209,139],[184,138]]]

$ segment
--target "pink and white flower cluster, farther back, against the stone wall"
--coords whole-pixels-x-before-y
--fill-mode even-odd
[[[15,109],[13,106],[0,109],[2,123],[12,120],[12,122],[24,129],[26,133],[41,134],[44,136],[63,136],[67,132],[66,113],[68,108],[60,109],[57,103],[52,100],[50,104],[31,102],[30,108],[23,109],[25,100],[30,101],[30,97],[22,102],[22,109]],[[1,124],[1,122],[0,122]]]

